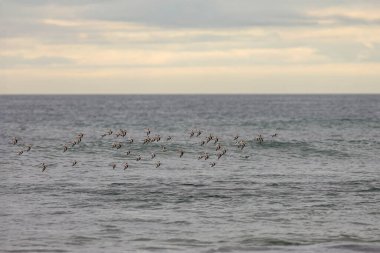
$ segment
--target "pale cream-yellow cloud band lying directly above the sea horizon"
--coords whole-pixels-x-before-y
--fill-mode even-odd
[[[37,94],[379,93],[378,73],[380,64],[0,70],[0,93],[31,91],[30,79]]]

